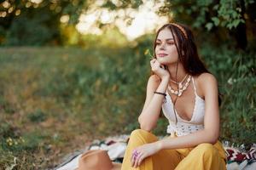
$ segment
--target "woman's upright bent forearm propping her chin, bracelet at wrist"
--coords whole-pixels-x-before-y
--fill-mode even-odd
[[[166,72],[160,71],[160,73]],[[141,129],[150,132],[156,126],[165,96],[154,94],[154,92],[166,94],[169,77],[169,74],[161,75],[161,78],[157,75],[149,77],[145,104],[142,113],[138,117]]]

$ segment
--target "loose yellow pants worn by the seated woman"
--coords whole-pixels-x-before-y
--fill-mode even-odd
[[[167,138],[175,138],[170,136]],[[160,150],[145,158],[137,168],[131,167],[131,153],[137,146],[157,141],[157,137],[142,129],[134,130],[125,150],[121,170],[223,170],[226,169],[226,156],[222,144],[198,144],[193,148]]]

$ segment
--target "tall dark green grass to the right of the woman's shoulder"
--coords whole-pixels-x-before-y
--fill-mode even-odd
[[[223,95],[220,108],[222,139],[236,144],[255,143],[256,53],[228,50],[224,46],[212,50],[212,45],[206,44],[201,54],[218,77]]]

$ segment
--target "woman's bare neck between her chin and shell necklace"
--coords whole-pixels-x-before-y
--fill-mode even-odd
[[[170,72],[170,78],[175,81],[175,82],[181,82],[183,81],[183,78],[188,74],[183,65],[181,63],[175,63],[172,65],[167,65],[168,66],[168,70]],[[176,71],[177,71],[177,77],[176,77]],[[176,79],[177,78],[177,79]]]

